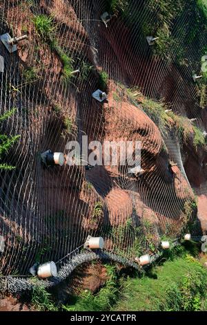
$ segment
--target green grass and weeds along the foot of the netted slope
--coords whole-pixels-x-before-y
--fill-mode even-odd
[[[97,293],[83,290],[79,296],[70,295],[68,302],[58,308],[55,297],[42,286],[32,290],[31,303],[37,310],[108,311],[108,310],[207,310],[207,270],[197,258],[199,247],[185,242],[164,251],[158,265],[145,273],[128,272],[105,264],[106,283]],[[34,278],[34,284],[35,280]]]

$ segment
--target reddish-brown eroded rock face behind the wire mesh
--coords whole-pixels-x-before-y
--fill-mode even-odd
[[[8,1],[4,15],[14,34],[26,30],[28,40],[18,45],[18,53],[12,57],[0,44],[6,66],[11,66],[1,87],[2,106],[17,106],[17,116],[6,129],[21,134],[21,142],[11,154],[17,169],[2,176],[0,226],[7,236],[1,259],[3,273],[9,275],[17,269],[27,274],[37,252],[44,252],[42,259],[57,260],[83,245],[88,234],[103,235],[107,250],[116,248],[134,259],[135,251],[128,253],[127,249],[134,247],[137,234],[132,239],[124,234],[128,236],[122,240],[124,245],[117,244],[113,228],[120,228],[123,234],[128,220],[134,222],[133,227],[145,225],[140,232],[144,249],[150,247],[151,239],[153,244],[159,244],[166,228],[170,230],[167,235],[177,236],[186,222],[184,204],[195,199],[192,187],[202,194],[198,216],[206,230],[206,149],[196,149],[193,141],[179,143],[180,147],[184,145],[181,156],[179,146],[169,141],[165,151],[166,137],[181,142],[175,121],[168,120],[164,134],[156,119],[152,120],[141,106],[146,97],[164,98],[176,114],[188,118],[195,114],[197,125],[200,127],[202,122],[206,127],[206,109],[201,112],[196,106],[196,86],[188,79],[189,72],[152,55],[147,44],[137,46],[132,26],[126,26],[119,15],[112,17],[106,28],[99,19],[99,4],[41,0],[30,8],[18,2]],[[34,15],[39,14],[52,16],[57,28],[52,35],[54,44],[48,35],[38,35]],[[2,29],[6,32],[8,26],[4,24]],[[63,82],[70,64],[72,69],[80,68],[81,73]],[[25,72],[31,72],[31,68],[35,78],[28,81]],[[99,82],[103,70],[108,73],[108,100],[99,103],[92,99],[92,93],[103,86]],[[132,86],[142,92],[134,102],[127,95]],[[117,88],[122,89],[118,98]],[[141,141],[144,174],[130,176],[128,165],[122,167],[120,161],[115,166],[100,165],[88,171],[68,165],[43,169],[39,159],[42,151],[50,148],[66,154],[67,142],[79,140],[83,134],[88,135],[89,142]],[[179,164],[170,168],[172,157]],[[146,244],[148,233],[150,240]],[[86,287],[92,291],[96,290],[96,281],[101,285],[94,271],[86,280]]]

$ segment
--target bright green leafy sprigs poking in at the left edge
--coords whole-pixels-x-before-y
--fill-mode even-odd
[[[10,118],[10,116],[12,116],[15,111],[16,109],[11,109],[10,111],[7,111],[6,113],[0,115],[0,123]],[[6,134],[0,134],[0,170],[15,169],[14,166],[8,165],[6,163],[2,163],[2,160],[5,154],[8,154],[12,145],[14,145],[14,143],[17,142],[17,140],[19,140],[19,137],[20,136],[6,136]]]

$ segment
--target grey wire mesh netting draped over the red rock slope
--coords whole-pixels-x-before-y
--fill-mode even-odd
[[[14,53],[0,44],[1,290],[39,283],[29,269],[45,261],[59,269],[46,286],[96,258],[139,268],[135,258],[156,256],[162,240],[206,231],[197,219],[197,196],[207,202],[205,1],[1,0],[0,8],[1,35],[28,37]],[[106,101],[92,97],[97,89]],[[128,173],[120,159],[43,165],[43,152],[67,155],[83,136],[103,146],[141,141],[144,173]],[[88,235],[102,236],[105,250],[83,251]]]

